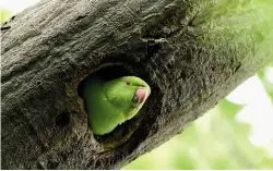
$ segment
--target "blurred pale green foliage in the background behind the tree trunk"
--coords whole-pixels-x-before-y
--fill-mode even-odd
[[[1,23],[11,14],[11,11],[1,8]],[[273,64],[258,73],[259,81],[270,99],[268,102],[271,108],[273,101],[272,66]],[[223,99],[182,134],[143,155],[123,169],[273,169],[273,151],[272,154],[269,151],[269,148],[273,149],[273,139],[269,141],[270,147],[251,143],[253,124],[238,119],[238,113],[244,108],[246,105]],[[264,112],[261,107],[257,109],[254,114]],[[273,115],[273,113],[270,114]],[[260,134],[270,134],[270,131],[272,130],[264,127]]]

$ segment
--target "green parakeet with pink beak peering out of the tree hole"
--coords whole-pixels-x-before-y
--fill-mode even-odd
[[[150,94],[150,86],[135,76],[111,81],[88,77],[83,85],[88,126],[96,135],[110,133],[117,125],[133,118]]]

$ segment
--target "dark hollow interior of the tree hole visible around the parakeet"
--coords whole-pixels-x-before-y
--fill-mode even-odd
[[[90,76],[99,76],[104,80],[110,81],[122,76],[140,76],[136,74],[134,70],[127,64],[106,64],[102,66],[97,71],[91,73],[87,77],[85,77],[78,86],[78,94],[82,98],[83,96],[83,84]],[[86,112],[86,110],[85,110]],[[126,121],[121,125],[118,125],[112,132],[106,135],[94,135],[97,143],[104,146],[104,150],[109,150],[115,148],[124,142],[127,142],[133,132],[138,129],[141,122],[141,111],[131,120]],[[87,124],[87,123],[86,123]]]

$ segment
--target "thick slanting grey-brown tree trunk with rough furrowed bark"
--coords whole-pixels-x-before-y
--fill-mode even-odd
[[[119,169],[181,133],[272,60],[250,30],[210,32],[218,16],[200,19],[211,5],[45,0],[13,16],[1,27],[2,169]],[[79,90],[95,71],[152,87],[134,120],[100,137]]]

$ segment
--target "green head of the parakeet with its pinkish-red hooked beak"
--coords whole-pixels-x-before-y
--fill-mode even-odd
[[[149,95],[150,86],[139,77],[123,76],[104,85],[107,100],[124,115],[124,121],[134,117]]]

